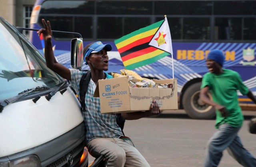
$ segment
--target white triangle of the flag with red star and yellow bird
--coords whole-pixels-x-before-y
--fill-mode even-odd
[[[152,40],[149,42],[150,46],[154,46],[160,50],[164,50],[173,55],[172,52],[172,38],[167,18],[164,19],[163,24],[160,26]]]

